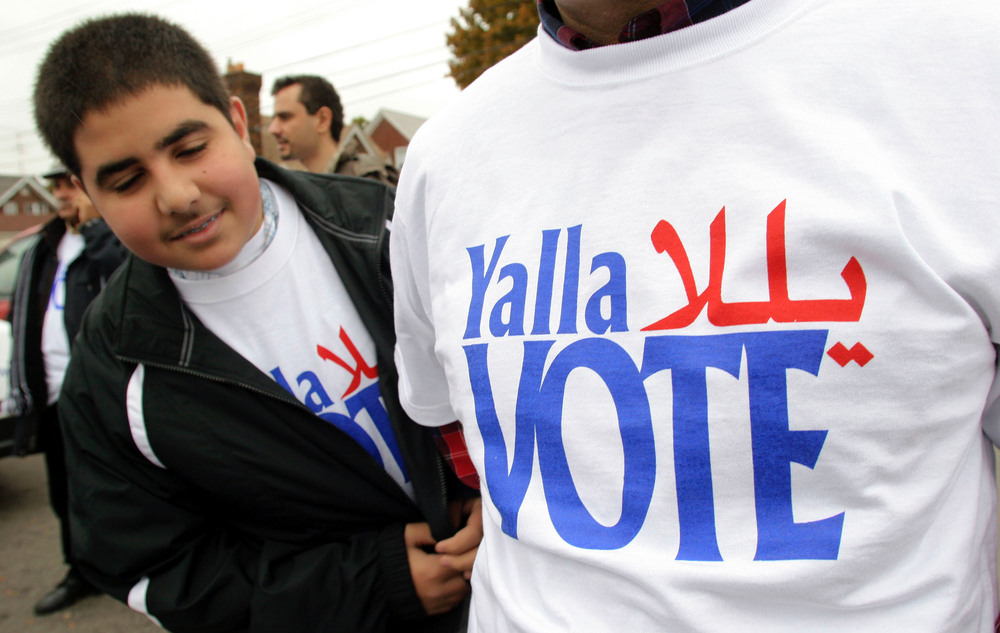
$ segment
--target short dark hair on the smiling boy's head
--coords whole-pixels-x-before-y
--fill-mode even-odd
[[[153,86],[189,88],[232,123],[229,93],[208,51],[176,24],[127,13],[87,20],[49,47],[35,82],[35,124],[79,176],[73,136],[84,117]]]

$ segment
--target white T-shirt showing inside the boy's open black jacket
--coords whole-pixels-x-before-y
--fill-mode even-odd
[[[291,195],[271,244],[239,270],[171,277],[208,329],[323,420],[358,442],[414,498],[376,373],[375,342]]]

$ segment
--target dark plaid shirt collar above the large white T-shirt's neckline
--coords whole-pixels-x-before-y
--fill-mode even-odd
[[[618,42],[635,42],[703,22],[735,9],[747,0],[669,0],[629,20],[618,35]],[[596,48],[600,44],[566,26],[554,0],[538,0],[542,28],[557,42],[572,50]]]

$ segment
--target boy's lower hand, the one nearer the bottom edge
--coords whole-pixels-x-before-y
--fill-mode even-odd
[[[434,545],[429,525],[407,524],[403,530],[403,540],[406,543],[413,586],[427,615],[450,611],[469,595],[469,583],[465,581],[462,571],[445,565],[441,554],[424,550],[425,547]]]

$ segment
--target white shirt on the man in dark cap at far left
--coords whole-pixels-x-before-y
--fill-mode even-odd
[[[66,269],[83,252],[83,236],[66,231],[56,248],[56,275],[49,293],[49,303],[42,320],[42,358],[45,360],[45,380],[49,402],[55,404],[62,389],[66,365],[69,364],[69,334],[66,332]]]

